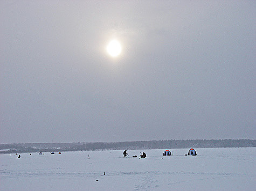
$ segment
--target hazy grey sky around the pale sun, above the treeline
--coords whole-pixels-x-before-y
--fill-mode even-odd
[[[256,1],[0,7],[1,143],[256,138]]]

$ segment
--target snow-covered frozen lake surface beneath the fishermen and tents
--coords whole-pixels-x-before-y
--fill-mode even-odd
[[[189,149],[0,155],[0,190],[256,190],[256,148]]]

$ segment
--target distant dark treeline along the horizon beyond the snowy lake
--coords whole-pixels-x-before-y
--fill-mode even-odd
[[[159,140],[130,141],[111,143],[13,143],[0,144],[0,153],[15,152],[52,152],[88,150],[135,150],[135,149],[182,149],[182,148],[235,148],[256,147],[252,139],[196,139],[196,140]]]

